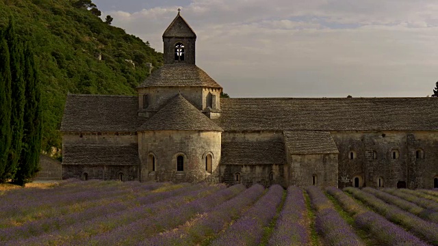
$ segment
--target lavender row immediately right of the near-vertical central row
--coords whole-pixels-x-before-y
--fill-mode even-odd
[[[337,213],[330,200],[315,186],[307,187],[316,210],[315,228],[329,245],[364,245],[350,225]]]

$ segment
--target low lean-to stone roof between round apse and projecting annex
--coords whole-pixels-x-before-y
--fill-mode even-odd
[[[221,165],[272,165],[285,163],[285,144],[282,141],[222,142]]]

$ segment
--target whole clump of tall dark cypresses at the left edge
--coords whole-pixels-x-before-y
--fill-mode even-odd
[[[1,100],[2,139],[0,182],[24,185],[38,172],[41,152],[42,114],[40,102],[40,79],[34,53],[29,42],[16,36],[11,19],[0,34],[0,83],[4,85]],[[9,100],[9,102],[7,102]]]

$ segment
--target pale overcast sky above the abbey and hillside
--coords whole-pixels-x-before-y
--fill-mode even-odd
[[[196,64],[233,97],[427,96],[437,0],[94,0],[162,52],[181,8]]]

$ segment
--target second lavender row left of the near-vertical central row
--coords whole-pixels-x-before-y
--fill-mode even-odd
[[[253,204],[265,189],[255,184],[233,199],[211,208],[193,223],[179,230],[170,230],[146,239],[138,245],[198,245],[205,238],[214,236],[224,225],[237,219],[247,206]]]

